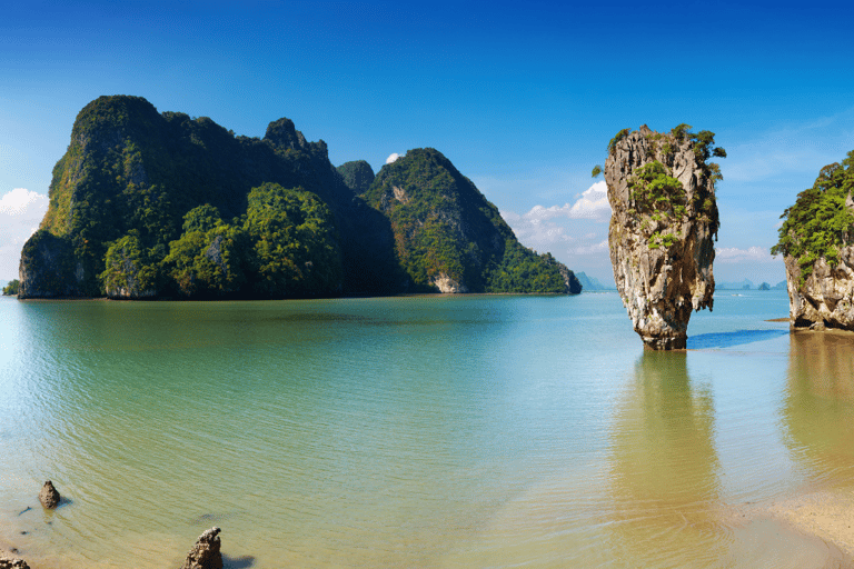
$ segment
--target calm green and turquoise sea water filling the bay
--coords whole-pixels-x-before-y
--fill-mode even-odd
[[[787,312],[719,291],[655,353],[616,293],[3,299],[0,546],[178,567],[219,526],[232,568],[832,566],[741,513],[854,488],[853,337]]]

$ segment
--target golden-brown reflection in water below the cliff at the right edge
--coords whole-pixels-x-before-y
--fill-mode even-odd
[[[854,336],[792,335],[782,415],[785,442],[813,482],[854,485]]]

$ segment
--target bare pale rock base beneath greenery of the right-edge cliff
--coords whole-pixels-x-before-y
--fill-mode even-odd
[[[854,330],[854,246],[840,250],[838,263],[818,258],[802,279],[792,256],[785,257],[788,287],[788,321],[794,329]]]

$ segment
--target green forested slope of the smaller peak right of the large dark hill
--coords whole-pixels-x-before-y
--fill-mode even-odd
[[[523,247],[495,206],[439,151],[386,164],[364,194],[391,221],[410,290],[450,281],[471,292],[564,292],[550,256]]]

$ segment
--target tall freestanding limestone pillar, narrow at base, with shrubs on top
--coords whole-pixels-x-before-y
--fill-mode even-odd
[[[635,331],[656,350],[684,349],[692,310],[712,310],[718,217],[714,133],[622,130],[608,144],[614,279]]]

